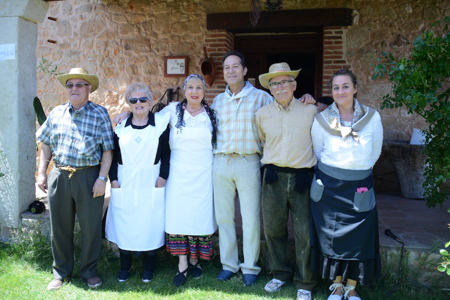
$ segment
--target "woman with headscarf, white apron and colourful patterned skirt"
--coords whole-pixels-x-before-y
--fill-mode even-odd
[[[166,249],[179,258],[176,287],[202,274],[199,259],[212,256],[217,229],[212,202],[212,147],[216,118],[204,100],[203,77],[191,74],[183,83],[185,99],[170,103],[170,174],[166,184]],[[189,259],[187,255],[190,255]]]

